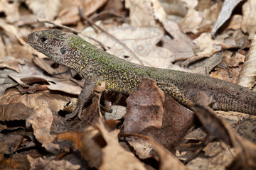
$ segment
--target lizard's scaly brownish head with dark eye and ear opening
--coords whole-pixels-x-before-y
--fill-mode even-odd
[[[28,35],[28,42],[31,47],[50,57],[54,62],[73,68],[74,52],[70,54],[70,51],[74,50],[68,50],[69,38],[72,36],[74,36],[72,33],[64,33],[57,29],[40,30]]]

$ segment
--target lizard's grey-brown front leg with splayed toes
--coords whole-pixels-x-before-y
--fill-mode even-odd
[[[93,90],[95,89],[96,83],[93,81],[85,81],[85,84],[82,88],[82,91],[80,95],[78,96],[78,101],[77,101],[77,106],[75,107],[75,110],[73,113],[68,115],[65,118],[65,121],[75,118],[78,116],[78,118],[81,120],[81,113],[82,113],[82,108],[85,106],[85,103],[90,100]]]

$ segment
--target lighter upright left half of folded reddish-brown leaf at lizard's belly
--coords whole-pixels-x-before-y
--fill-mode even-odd
[[[154,126],[161,128],[164,114],[164,92],[156,82],[143,79],[142,84],[127,98],[127,113],[124,115],[124,132],[142,132]]]

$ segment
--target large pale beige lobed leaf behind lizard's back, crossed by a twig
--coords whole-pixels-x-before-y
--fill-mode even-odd
[[[163,31],[159,28],[142,28],[142,27],[122,27],[107,30],[108,33],[124,42],[129,49],[134,51],[140,60],[146,66],[159,68],[168,68],[174,61],[174,54],[164,47],[157,47],[156,43],[161,40]],[[129,62],[139,64],[136,58],[129,57],[129,52],[124,51],[123,47],[105,33],[97,35],[97,40],[110,47],[107,50],[112,55],[116,55]]]

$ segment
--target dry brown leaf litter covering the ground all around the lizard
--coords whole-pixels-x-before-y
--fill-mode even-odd
[[[50,23],[70,26],[107,52],[140,63],[87,24],[78,7],[144,65],[255,89],[253,0],[3,0],[1,169],[255,169],[255,116],[209,110],[204,94],[191,111],[151,79],[128,98],[95,89],[82,120],[64,122],[84,80],[33,50],[29,33],[53,28]]]

